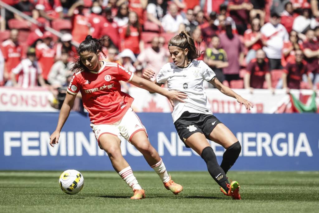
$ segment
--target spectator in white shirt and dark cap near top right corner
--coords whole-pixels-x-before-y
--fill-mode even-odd
[[[302,14],[297,16],[293,21],[293,30],[297,33],[305,34],[309,28],[314,29],[317,27],[319,23],[311,16],[310,4],[308,2],[304,2],[302,4]]]

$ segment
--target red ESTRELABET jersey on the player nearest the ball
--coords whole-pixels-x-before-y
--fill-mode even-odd
[[[114,124],[122,119],[134,98],[121,91],[120,80],[130,81],[133,73],[117,63],[103,61],[98,72],[73,74],[67,91],[82,95],[85,109],[93,124]]]

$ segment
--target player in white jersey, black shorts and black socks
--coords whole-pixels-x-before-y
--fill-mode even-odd
[[[211,112],[203,81],[213,84],[225,95],[244,104],[247,109],[253,105],[221,84],[215,73],[203,61],[195,60],[200,53],[187,31],[175,35],[168,42],[168,49],[174,63],[164,65],[154,83],[161,85],[167,82],[168,90],[178,90],[187,94],[184,102],[174,100],[172,116],[177,133],[186,147],[192,148],[204,159],[211,177],[219,184],[220,190],[233,199],[240,200],[238,182],[229,183],[226,173],[238,158],[241,145],[234,134]],[[143,73],[145,79],[153,76],[152,70],[147,69]],[[220,166],[206,139],[215,141],[226,149]]]

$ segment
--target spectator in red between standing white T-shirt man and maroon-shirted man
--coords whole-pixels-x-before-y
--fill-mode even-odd
[[[295,60],[295,52],[296,50],[301,49],[301,44],[302,42],[298,37],[298,33],[294,30],[291,31],[289,34],[289,41],[284,42],[281,65],[286,66],[287,62]]]

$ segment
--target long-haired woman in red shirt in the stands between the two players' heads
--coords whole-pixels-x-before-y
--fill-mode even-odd
[[[136,12],[130,12],[129,23],[120,29],[121,47],[122,49],[130,49],[135,55],[143,49],[143,41],[141,40],[141,26],[138,22]]]

